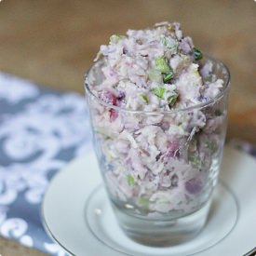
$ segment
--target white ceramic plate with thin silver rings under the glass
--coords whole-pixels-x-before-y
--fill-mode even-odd
[[[74,159],[50,182],[43,222],[48,234],[77,256],[241,256],[256,246],[256,161],[226,147],[220,178],[204,230],[171,248],[139,245],[122,233],[92,153]]]

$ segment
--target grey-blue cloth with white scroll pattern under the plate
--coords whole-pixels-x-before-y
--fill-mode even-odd
[[[0,73],[0,235],[65,255],[43,228],[40,204],[57,171],[92,150],[89,134],[82,95]],[[249,143],[230,142],[256,156]]]

